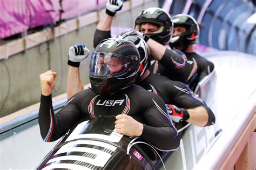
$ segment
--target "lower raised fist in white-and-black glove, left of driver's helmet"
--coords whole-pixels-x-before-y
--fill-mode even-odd
[[[69,47],[68,65],[79,67],[80,62],[89,56],[90,50],[84,44],[78,44]]]

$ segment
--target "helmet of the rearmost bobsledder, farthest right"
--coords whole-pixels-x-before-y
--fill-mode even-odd
[[[200,30],[196,19],[190,15],[179,14],[174,16],[172,21],[174,28],[176,26],[182,26],[186,28],[186,32],[173,36],[169,42],[171,47],[182,46],[183,50],[186,50],[188,45],[198,42]]]

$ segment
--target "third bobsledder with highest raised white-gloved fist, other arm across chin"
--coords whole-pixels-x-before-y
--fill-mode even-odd
[[[107,3],[106,9],[115,8],[122,9],[123,4],[116,1]],[[93,46],[96,47],[100,40],[111,37],[111,25],[113,21],[113,13],[106,10],[102,19],[100,19],[94,37]],[[144,24],[155,25],[156,30],[145,27]],[[167,49],[167,44],[172,37],[173,22],[168,12],[160,8],[147,8],[141,11],[136,18],[134,35],[141,34],[150,47],[151,59],[156,60],[159,71],[162,75],[169,77],[171,80],[186,83],[186,56],[179,50]],[[151,30],[151,31],[145,31]],[[140,33],[140,32],[144,33]],[[127,31],[129,32],[129,31]],[[131,35],[131,32],[129,34]]]

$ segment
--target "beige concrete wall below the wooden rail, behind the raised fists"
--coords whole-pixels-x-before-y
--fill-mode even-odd
[[[151,6],[157,6],[157,1],[148,2],[131,11],[116,15],[113,26],[133,27],[134,19],[136,19],[138,13],[143,8]],[[41,96],[39,74],[50,69],[58,73],[53,96],[64,93],[69,47],[83,43],[93,51],[92,42],[96,25],[97,23],[85,26],[82,29],[11,56],[7,60],[0,60],[0,118],[38,103]],[[37,39],[34,40],[37,41]],[[12,49],[10,48],[10,50]],[[88,71],[89,58],[80,65],[84,84],[89,83]]]

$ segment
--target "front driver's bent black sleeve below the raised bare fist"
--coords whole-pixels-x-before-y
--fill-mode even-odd
[[[55,114],[52,107],[51,95],[42,95],[38,122],[43,140],[50,142],[62,137],[75,123],[79,114],[78,108],[71,102]]]

